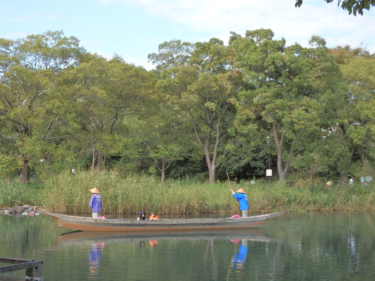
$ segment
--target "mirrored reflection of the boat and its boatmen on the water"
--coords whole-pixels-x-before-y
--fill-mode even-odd
[[[91,247],[90,250],[90,278],[100,279],[99,264],[102,251],[105,251],[108,247],[113,249],[111,244],[126,244],[136,243],[137,248],[147,248],[156,250],[159,248],[157,253],[160,253],[162,249],[165,249],[166,244],[171,241],[193,241],[193,240],[205,240],[207,243],[207,251],[214,253],[214,245],[220,247],[223,244],[223,240],[226,243],[232,244],[231,248],[233,251],[227,252],[228,259],[226,266],[228,270],[226,274],[233,275],[234,279],[244,280],[244,266],[246,257],[248,255],[248,242],[282,242],[281,239],[275,239],[266,235],[264,229],[246,229],[246,230],[220,230],[220,231],[196,231],[196,232],[157,232],[157,233],[104,233],[104,232],[87,232],[87,231],[75,231],[70,233],[64,233],[60,235],[55,244],[59,246],[79,246]],[[106,246],[106,248],[104,248]],[[180,244],[178,244],[180,245]],[[226,244],[228,245],[228,244]],[[162,248],[160,248],[162,247]],[[117,247],[116,247],[117,248]],[[228,249],[229,249],[228,248]],[[210,249],[210,250],[208,250]],[[209,256],[209,253],[204,256]],[[206,257],[207,258],[207,257]],[[129,257],[129,259],[131,259]],[[208,260],[205,262],[208,264]]]

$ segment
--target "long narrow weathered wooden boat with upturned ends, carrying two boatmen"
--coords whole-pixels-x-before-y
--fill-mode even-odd
[[[77,217],[57,214],[37,208],[39,212],[54,217],[61,227],[83,231],[175,231],[175,230],[215,230],[215,229],[248,229],[263,226],[267,220],[287,212],[255,215],[247,218],[183,218],[183,219],[159,219],[132,220],[132,219],[102,219]]]

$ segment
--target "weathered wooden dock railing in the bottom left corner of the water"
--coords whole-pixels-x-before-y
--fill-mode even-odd
[[[0,267],[0,280],[1,281],[42,281],[42,260],[26,260],[26,259],[13,259],[8,257],[0,257],[0,263],[11,263],[12,265]],[[26,277],[14,277],[1,275],[6,272],[17,271],[26,269]]]

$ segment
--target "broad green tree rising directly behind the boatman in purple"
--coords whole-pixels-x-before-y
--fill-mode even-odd
[[[75,102],[78,132],[92,148],[92,169],[102,169],[105,157],[122,154],[128,144],[126,118],[134,107],[152,91],[148,73],[127,64],[121,57],[110,61],[99,55],[86,54],[79,66],[67,73],[71,101]]]

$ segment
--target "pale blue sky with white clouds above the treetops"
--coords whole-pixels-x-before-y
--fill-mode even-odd
[[[270,28],[287,46],[307,47],[312,35],[328,47],[362,44],[375,52],[375,7],[348,15],[337,0],[1,0],[0,38],[20,39],[48,30],[75,36],[88,52],[153,69],[147,55],[170,40],[228,43],[230,32]]]

